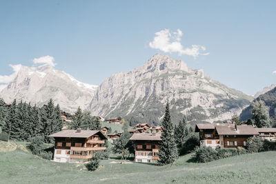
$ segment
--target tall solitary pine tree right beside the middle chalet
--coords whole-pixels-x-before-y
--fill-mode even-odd
[[[159,165],[173,163],[178,157],[177,144],[175,143],[174,126],[170,120],[169,104],[166,104],[166,112],[162,121],[163,131],[159,148]]]

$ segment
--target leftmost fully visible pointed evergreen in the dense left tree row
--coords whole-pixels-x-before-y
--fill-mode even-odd
[[[19,139],[20,137],[19,119],[17,116],[17,101],[14,99],[10,108],[8,109],[8,115],[6,123],[3,126],[3,132],[8,134],[8,140]]]

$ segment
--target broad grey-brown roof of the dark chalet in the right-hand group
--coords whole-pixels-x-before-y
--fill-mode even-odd
[[[258,135],[252,125],[237,125],[237,130],[234,125],[216,125],[215,129],[219,135]]]

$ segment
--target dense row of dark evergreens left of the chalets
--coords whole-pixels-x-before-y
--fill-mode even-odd
[[[8,140],[29,141],[42,136],[45,143],[50,143],[52,139],[48,135],[59,132],[63,122],[59,105],[55,105],[52,99],[41,108],[16,100],[6,105],[0,99],[0,126]]]

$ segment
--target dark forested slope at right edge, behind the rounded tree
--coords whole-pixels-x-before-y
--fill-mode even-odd
[[[272,90],[259,95],[257,99],[254,101],[264,101],[266,106],[268,106],[269,109],[269,115],[273,121],[276,122],[276,86]],[[247,119],[250,119],[252,117],[251,115],[252,105],[245,108],[242,113],[240,114],[240,118],[242,121],[246,121]]]

